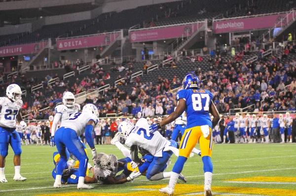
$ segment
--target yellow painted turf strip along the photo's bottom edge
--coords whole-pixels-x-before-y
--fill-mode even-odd
[[[131,193],[100,193],[100,196],[158,196],[161,195],[158,189],[165,187],[165,185],[149,185],[149,186],[138,186],[131,187],[138,189],[147,189],[147,191],[138,191]],[[99,187],[97,187],[99,189]],[[201,193],[204,191],[203,185],[187,185],[187,184],[178,184],[175,187],[175,195],[185,196],[186,194]],[[226,194],[229,196],[246,194],[256,196],[296,196],[296,190],[285,190],[285,189],[265,189],[265,188],[249,188],[249,187],[212,187],[212,191],[215,193],[221,193],[223,196]],[[61,194],[50,194],[42,196],[97,196],[98,193],[61,193]],[[198,196],[202,196],[199,195]]]

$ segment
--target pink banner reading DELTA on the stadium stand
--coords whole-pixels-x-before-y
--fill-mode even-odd
[[[78,48],[88,48],[106,46],[114,41],[120,33],[98,34],[89,37],[77,37],[57,40],[58,50],[71,50]]]

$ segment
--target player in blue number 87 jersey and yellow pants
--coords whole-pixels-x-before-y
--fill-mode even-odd
[[[182,85],[183,90],[177,93],[179,104],[176,110],[165,120],[163,120],[159,124],[152,125],[149,128],[149,134],[155,134],[158,132],[157,130],[159,127],[173,122],[178,117],[180,117],[180,115],[182,115],[184,111],[186,111],[187,129],[182,136],[179,157],[177,159],[177,162],[174,164],[169,185],[165,188],[160,189],[159,191],[168,195],[174,194],[174,188],[177,179],[184,167],[184,164],[187,161],[192,149],[199,141],[202,162],[204,164],[203,168],[205,172],[204,194],[205,196],[212,196],[212,129],[218,124],[220,120],[220,115],[215,104],[213,103],[212,93],[207,90],[199,89],[199,79],[196,75],[187,74],[182,82]],[[213,122],[211,121],[209,113],[214,116]],[[161,144],[161,141],[155,142],[157,142],[157,145]]]

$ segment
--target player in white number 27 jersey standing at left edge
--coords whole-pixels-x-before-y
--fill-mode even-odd
[[[7,182],[4,174],[5,158],[8,154],[10,144],[14,152],[14,177],[15,181],[25,181],[27,178],[21,176],[21,138],[16,131],[16,120],[21,129],[25,130],[27,124],[23,121],[21,108],[23,105],[22,91],[17,84],[11,84],[6,89],[6,96],[0,98],[0,182]]]

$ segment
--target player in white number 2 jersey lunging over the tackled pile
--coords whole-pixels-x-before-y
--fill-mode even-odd
[[[158,131],[149,133],[147,119],[140,118],[134,126],[129,121],[123,121],[118,126],[120,136],[125,140],[125,145],[131,149],[132,161],[137,165],[141,163],[138,157],[138,148],[148,151],[153,156],[146,172],[148,180],[160,180],[170,177],[172,172],[164,172],[170,157],[175,153],[179,155],[177,142],[166,140]],[[182,174],[178,178],[185,181]]]

